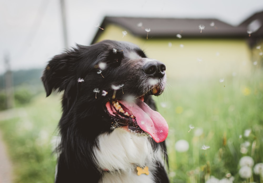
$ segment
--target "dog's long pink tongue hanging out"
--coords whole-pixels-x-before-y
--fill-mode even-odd
[[[119,101],[136,117],[139,127],[149,133],[157,143],[163,142],[168,136],[168,124],[159,112],[152,110],[146,103],[137,100],[136,103]]]

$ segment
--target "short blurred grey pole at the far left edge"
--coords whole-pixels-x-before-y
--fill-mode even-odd
[[[6,66],[5,76],[5,87],[6,87],[6,107],[12,108],[14,107],[14,92],[13,92],[13,77],[10,66],[10,56],[4,56],[4,63]]]

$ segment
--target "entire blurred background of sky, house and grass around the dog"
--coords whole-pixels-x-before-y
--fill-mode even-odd
[[[165,63],[171,182],[263,183],[263,1],[0,0],[0,182],[54,182],[56,54],[129,41]]]

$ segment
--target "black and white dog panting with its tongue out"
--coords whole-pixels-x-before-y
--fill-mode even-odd
[[[47,96],[63,91],[56,183],[169,182],[165,119],[151,95],[165,87],[165,65],[136,45],[77,45],[49,61]]]

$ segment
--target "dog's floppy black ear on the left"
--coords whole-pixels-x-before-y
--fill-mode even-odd
[[[74,81],[76,62],[71,58],[70,52],[56,55],[48,62],[41,77],[47,96],[52,90],[63,91]]]

